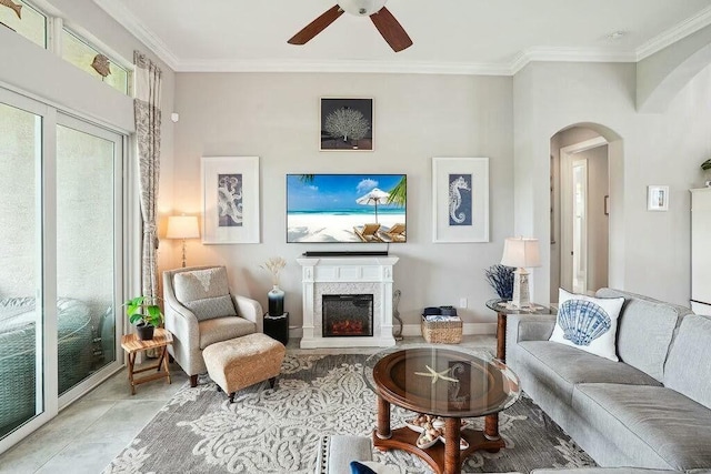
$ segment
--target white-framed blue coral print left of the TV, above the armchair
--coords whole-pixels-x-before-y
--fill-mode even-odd
[[[202,157],[202,243],[259,243],[259,157]]]

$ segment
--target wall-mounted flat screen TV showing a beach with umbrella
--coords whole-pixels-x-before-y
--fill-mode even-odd
[[[287,174],[287,242],[405,242],[407,182],[407,174]]]

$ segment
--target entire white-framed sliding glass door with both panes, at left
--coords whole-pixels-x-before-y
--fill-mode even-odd
[[[120,366],[124,141],[0,88],[0,453]]]

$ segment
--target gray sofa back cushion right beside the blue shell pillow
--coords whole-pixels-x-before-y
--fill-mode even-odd
[[[647,372],[661,382],[664,361],[680,317],[691,311],[688,307],[612,289],[601,289],[597,295],[624,297],[618,329],[618,356],[622,362]]]

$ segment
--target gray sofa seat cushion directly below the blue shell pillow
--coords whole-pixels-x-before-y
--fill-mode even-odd
[[[558,392],[568,404],[572,399],[573,386],[578,383],[661,385],[653,377],[630,365],[550,341],[521,341],[518,350],[528,354],[519,355],[520,370],[532,374],[537,383]],[[523,390],[527,387],[523,386]]]

